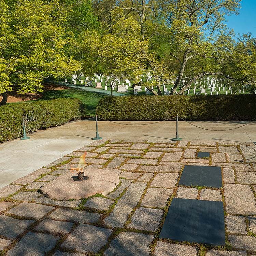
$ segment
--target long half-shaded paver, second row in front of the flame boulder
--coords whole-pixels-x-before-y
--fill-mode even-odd
[[[99,220],[100,214],[57,208],[47,218],[75,223],[94,223]]]

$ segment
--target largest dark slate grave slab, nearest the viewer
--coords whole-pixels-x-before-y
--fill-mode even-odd
[[[224,245],[223,203],[174,198],[159,238]]]

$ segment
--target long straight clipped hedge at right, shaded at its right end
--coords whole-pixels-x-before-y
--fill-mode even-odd
[[[256,95],[104,97],[96,113],[107,120],[252,120]]]

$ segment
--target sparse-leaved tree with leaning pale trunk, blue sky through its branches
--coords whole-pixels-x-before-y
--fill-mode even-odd
[[[232,47],[230,36],[225,33],[225,15],[237,14],[240,0],[171,0],[167,4],[169,20],[170,55],[179,63],[177,78],[171,91],[180,86],[187,64],[191,61],[201,66],[179,92],[205,75],[218,74],[218,64],[226,58]],[[205,70],[202,64],[214,70]]]

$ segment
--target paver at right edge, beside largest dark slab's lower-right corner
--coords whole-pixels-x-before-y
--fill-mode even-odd
[[[228,236],[228,240],[235,248],[256,251],[256,237]]]

